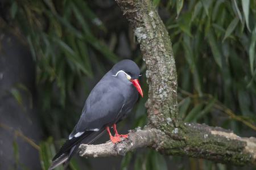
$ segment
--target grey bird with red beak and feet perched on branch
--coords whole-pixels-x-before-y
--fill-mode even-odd
[[[90,92],[80,120],[52,159],[48,170],[62,163],[64,163],[64,169],[67,168],[81,143],[90,144],[105,131],[108,131],[113,143],[120,142],[120,137],[129,138],[128,134],[118,134],[116,124],[131,112],[138,100],[138,93],[143,97],[142,88],[138,82],[139,76],[140,70],[134,61],[123,59],[115,63]],[[114,136],[110,133],[112,127]]]

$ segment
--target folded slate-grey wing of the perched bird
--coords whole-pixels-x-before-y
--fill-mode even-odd
[[[112,82],[99,82],[88,96],[80,120],[69,139],[84,131],[97,131],[104,126],[115,124],[124,105],[125,98],[120,89],[114,88]]]

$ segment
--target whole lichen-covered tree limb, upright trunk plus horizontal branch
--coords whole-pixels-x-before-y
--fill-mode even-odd
[[[163,155],[191,156],[239,166],[255,164],[255,138],[241,138],[229,130],[188,124],[177,118],[175,61],[162,20],[150,0],[116,1],[134,29],[147,65],[149,121],[146,129],[129,134],[133,142],[125,139],[117,145],[81,145],[80,155],[117,156],[147,146]],[[135,139],[142,134],[140,141]]]

